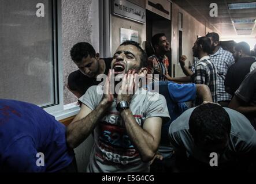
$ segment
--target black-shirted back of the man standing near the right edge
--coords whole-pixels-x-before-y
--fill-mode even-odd
[[[225,89],[229,94],[232,96],[235,94],[254,62],[254,57],[241,57],[238,62],[232,64],[225,78]]]

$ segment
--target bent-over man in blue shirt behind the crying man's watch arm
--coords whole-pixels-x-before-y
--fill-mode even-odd
[[[158,158],[151,166],[151,172],[168,172],[172,170],[173,147],[170,145],[168,130],[172,121],[176,120],[188,109],[184,102],[194,101],[196,97],[202,101],[212,102],[212,94],[206,85],[177,84],[174,82],[155,82],[154,87],[159,85],[159,94],[164,95],[168,107],[170,121],[162,125],[161,141],[158,148]],[[159,156],[161,155],[161,156]],[[162,159],[162,160],[161,160]],[[173,171],[173,170],[172,170]]]

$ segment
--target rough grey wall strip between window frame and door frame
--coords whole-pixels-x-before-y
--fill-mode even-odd
[[[99,1],[62,0],[62,63],[64,82],[64,104],[77,101],[66,89],[68,75],[77,70],[71,60],[70,49],[77,42],[86,41],[99,51]]]

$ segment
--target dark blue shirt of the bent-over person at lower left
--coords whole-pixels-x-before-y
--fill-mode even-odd
[[[55,172],[68,166],[74,152],[66,145],[65,132],[63,124],[38,106],[0,99],[0,172]],[[38,153],[44,155],[44,166],[38,164],[43,159]]]

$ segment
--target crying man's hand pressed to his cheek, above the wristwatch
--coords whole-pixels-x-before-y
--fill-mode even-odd
[[[121,89],[117,95],[117,104],[121,101],[131,101],[133,94],[135,93],[138,85],[138,74],[135,73],[136,70],[129,70],[128,74],[124,75]]]

